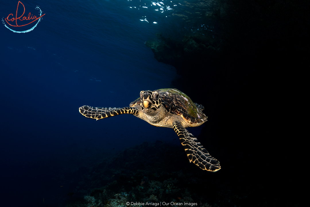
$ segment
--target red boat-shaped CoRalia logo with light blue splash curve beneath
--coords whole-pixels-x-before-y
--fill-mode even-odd
[[[20,3],[21,3],[21,5],[23,5],[23,7],[24,7],[24,12],[23,12],[23,14],[22,14],[21,16],[17,17],[18,6],[19,6]],[[11,31],[16,32],[16,33],[26,33],[26,32],[30,32],[31,30],[33,30],[33,29],[38,25],[38,23],[39,23],[40,20],[41,20],[40,18],[41,18],[42,16],[45,15],[45,14],[42,15],[42,11],[41,11],[40,7],[36,6],[35,9],[39,9],[39,10],[40,10],[39,17],[33,16],[33,15],[31,14],[31,12],[29,12],[28,16],[24,16],[24,14],[25,14],[25,6],[24,6],[24,4],[23,4],[22,2],[18,1],[15,17],[14,17],[13,14],[9,14],[9,15],[7,16],[7,18],[5,18],[5,21],[7,22],[7,24],[10,25],[10,26],[12,26],[12,27],[23,27],[23,26],[29,25],[29,24],[35,22],[36,20],[38,20],[38,22],[37,22],[32,28],[27,29],[27,30],[24,30],[24,31],[15,31],[15,30],[13,30],[13,29],[10,29],[10,28],[6,25],[5,22],[4,22],[4,20],[3,20],[3,18],[2,18],[3,25],[4,25],[7,29],[10,29]],[[17,20],[19,20],[19,21],[17,21]],[[31,20],[31,22],[26,21],[26,20]],[[21,22],[21,21],[24,21],[24,22]],[[14,23],[15,23],[16,25],[13,25]],[[19,24],[22,24],[22,25],[19,25]]]

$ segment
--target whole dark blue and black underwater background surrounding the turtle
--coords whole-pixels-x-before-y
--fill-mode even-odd
[[[301,205],[293,106],[309,68],[309,2],[22,3],[24,16],[45,15],[33,30],[12,27],[18,1],[0,3],[1,206]],[[205,107],[208,121],[188,130],[221,170],[189,163],[171,128],[78,111],[159,88]]]

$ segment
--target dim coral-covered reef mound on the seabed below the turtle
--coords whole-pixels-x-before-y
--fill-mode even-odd
[[[82,176],[74,195],[84,199],[73,199],[68,207],[150,206],[160,202],[207,207],[209,200],[214,201],[200,186],[213,186],[213,174],[191,165],[181,146],[144,142],[115,155],[113,163],[110,160],[95,165],[92,176],[87,176],[89,172]],[[210,179],[202,181],[206,174]]]

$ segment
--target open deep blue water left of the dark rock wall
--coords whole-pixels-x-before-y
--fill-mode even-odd
[[[1,2],[3,20],[17,3]],[[144,43],[157,32],[177,36],[188,25],[147,1],[22,3],[26,15],[37,15],[39,6],[45,16],[27,33],[0,26],[1,206],[39,206],[43,198],[55,204],[72,191],[60,191],[57,179],[100,153],[144,141],[179,144],[173,130],[132,115],[95,121],[78,108],[125,107],[141,90],[170,88],[175,69],[157,62]]]

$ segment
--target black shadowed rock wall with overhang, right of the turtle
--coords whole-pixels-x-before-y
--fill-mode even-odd
[[[299,1],[219,1],[211,17],[218,36],[175,41],[158,33],[159,41],[146,44],[158,61],[175,66],[180,77],[171,88],[205,106],[198,139],[221,162],[221,190],[243,196],[241,206],[298,206],[302,198],[292,166],[300,135],[287,115],[296,114],[309,67],[308,9]]]

